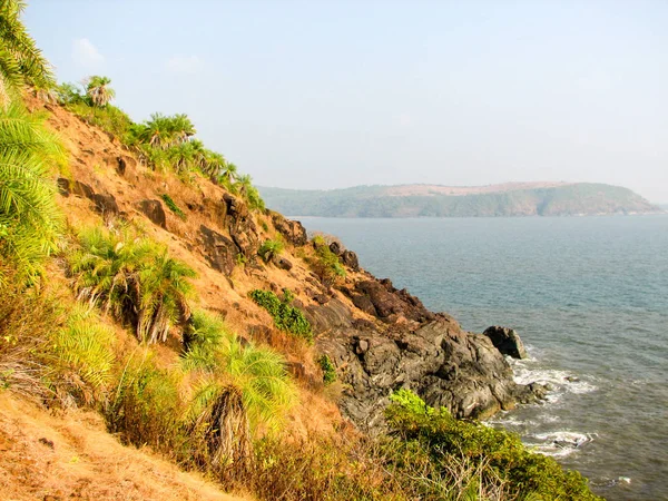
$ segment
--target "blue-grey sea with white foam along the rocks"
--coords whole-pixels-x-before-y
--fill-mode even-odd
[[[609,500],[668,500],[668,216],[299,218],[464,328],[518,330],[541,405],[492,419]]]

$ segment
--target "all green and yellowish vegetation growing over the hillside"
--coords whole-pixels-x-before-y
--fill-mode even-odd
[[[117,220],[114,229],[81,230],[71,243],[60,238],[50,173],[62,148],[18,99],[26,85],[52,84],[18,19],[22,8],[0,2],[0,390],[51,406],[98,409],[125,442],[259,499],[596,499],[578,473],[530,453],[517,436],[453,420],[406,391],[387,410],[387,436],[282,435],[296,399],[285,360],[238,337],[218,315],[191,312],[190,267]],[[263,207],[250,178],[195,140],[186,116],[132,124],[110,105],[109,84],[94,77],[85,89],[61,86],[58,98],[144,151],[154,167],[202,171]],[[343,274],[330,248],[315,244],[322,279]],[[67,250],[71,281],[40,281],[58,246]],[[266,245],[263,257],[278,252]],[[288,291],[283,298],[259,289],[249,295],[278,328],[313,340]],[[183,333],[178,364],[150,346],[171,328]],[[332,361],[318,363],[325,383],[334,381]]]

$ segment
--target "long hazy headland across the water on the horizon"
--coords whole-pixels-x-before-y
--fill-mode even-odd
[[[331,190],[258,187],[266,205],[293,216],[573,216],[662,212],[628,188],[590,183],[489,186],[356,186]]]

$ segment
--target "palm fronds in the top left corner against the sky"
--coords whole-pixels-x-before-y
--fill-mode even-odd
[[[20,16],[22,0],[0,0],[0,106],[11,101],[11,95],[23,85],[49,90],[56,80],[49,62],[30,38]]]

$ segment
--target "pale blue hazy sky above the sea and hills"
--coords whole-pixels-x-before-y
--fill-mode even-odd
[[[668,204],[668,1],[32,0],[59,81],[255,184],[564,180]]]

